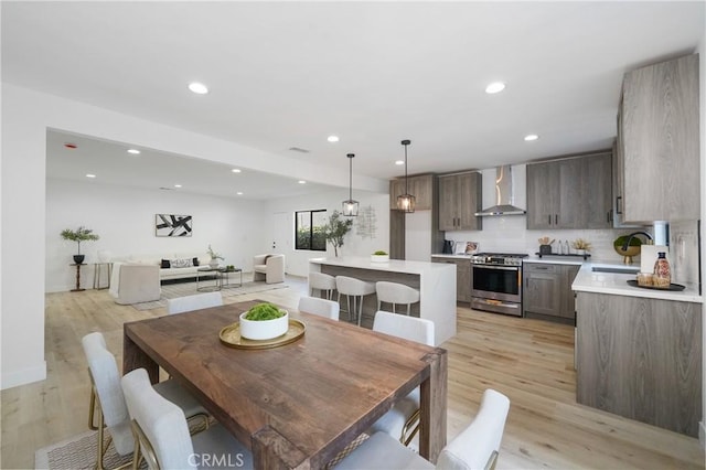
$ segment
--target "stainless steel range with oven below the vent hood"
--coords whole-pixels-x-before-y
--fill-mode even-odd
[[[471,308],[522,317],[522,258],[513,253],[480,253],[471,257]]]

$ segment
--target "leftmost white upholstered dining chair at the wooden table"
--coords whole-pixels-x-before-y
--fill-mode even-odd
[[[104,444],[104,427],[108,429],[115,449],[120,456],[128,456],[132,452],[135,438],[130,430],[130,418],[120,387],[118,365],[115,356],[106,346],[105,338],[99,332],[88,333],[82,339],[82,344],[88,361],[88,375],[92,382],[88,426],[98,429],[96,467],[101,469],[103,456],[110,442],[108,440]],[[156,387],[160,394],[178,403],[186,416],[202,418],[204,425],[207,424],[206,410],[176,382],[160,382]],[[98,412],[98,424],[94,425],[96,410]]]

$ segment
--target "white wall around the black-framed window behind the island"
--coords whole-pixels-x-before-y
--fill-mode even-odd
[[[291,243],[289,246],[280,247],[279,253],[284,253],[287,260],[287,273],[296,276],[307,276],[309,273],[309,259],[323,256],[333,257],[333,248],[327,245],[327,253],[296,250],[293,248],[295,236],[295,212],[317,209],[325,209],[333,212],[341,211],[341,202],[349,197],[347,189],[330,191],[325,193],[310,194],[301,197],[288,197],[268,201],[265,204],[265,213],[270,220],[276,214],[286,214],[287,223],[290,227]],[[372,206],[375,214],[375,236],[363,237],[360,234],[360,217],[354,217],[353,228],[345,236],[343,247],[339,248],[339,256],[370,256],[373,252],[384,249],[389,252],[389,195],[387,193],[376,193],[370,191],[353,191],[353,199],[360,202],[361,209]],[[276,228],[270,226],[270,231]],[[263,252],[271,252],[269,238],[264,241]]]

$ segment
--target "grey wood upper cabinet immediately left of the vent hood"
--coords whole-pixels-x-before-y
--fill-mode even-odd
[[[480,231],[482,178],[477,171],[439,177],[439,229]]]

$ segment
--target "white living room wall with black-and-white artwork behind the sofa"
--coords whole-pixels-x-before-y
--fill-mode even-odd
[[[145,190],[98,184],[93,181],[46,181],[46,291],[65,291],[75,286],[75,270],[68,264],[76,243],[62,239],[64,228],[84,225],[100,236],[82,243],[84,263],[97,260],[99,249],[115,258],[173,258],[205,256],[211,244],[224,264],[252,270],[253,255],[264,232],[263,202],[238,201],[179,191]],[[193,216],[191,237],[158,237],[154,214]],[[105,276],[105,274],[104,274]],[[105,279],[105,277],[104,277]],[[93,266],[82,269],[82,287],[93,286]]]

